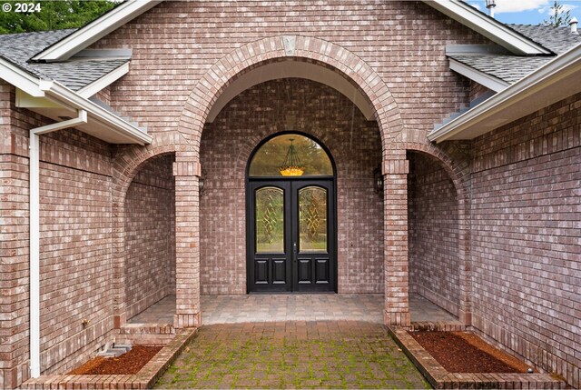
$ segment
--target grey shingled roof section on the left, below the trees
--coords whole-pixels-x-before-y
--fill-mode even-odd
[[[111,73],[128,59],[71,59],[57,63],[34,63],[30,58],[71,35],[76,29],[0,35],[0,57],[41,79],[56,80],[73,91]]]

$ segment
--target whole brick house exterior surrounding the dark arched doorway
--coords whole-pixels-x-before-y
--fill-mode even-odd
[[[89,112],[34,135],[42,374],[78,365],[166,295],[182,328],[203,324],[200,295],[246,294],[247,165],[262,140],[297,131],[336,164],[337,293],[383,294],[385,323],[404,326],[409,294],[422,295],[581,385],[581,39],[546,47],[455,0],[137,3],[110,13],[133,7],[107,31],[0,38],[0,387],[33,365],[31,130],[74,120],[38,103],[58,85],[34,95],[23,72],[62,83],[59,99],[82,96],[74,109]],[[18,42],[31,47],[24,61]],[[50,53],[62,42],[68,52]],[[540,103],[511,100],[537,79],[483,76],[482,58],[458,49],[484,46],[502,49],[485,62],[563,76],[539,84]],[[128,50],[130,63],[113,63]],[[92,66],[78,53],[102,53],[98,90],[65,77]]]

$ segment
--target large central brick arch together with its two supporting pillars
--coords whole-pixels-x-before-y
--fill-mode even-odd
[[[350,51],[313,37],[292,35],[274,36],[243,45],[224,56],[202,77],[184,105],[179,131],[193,151],[176,155],[176,165],[199,164],[200,141],[206,118],[222,92],[245,72],[279,59],[309,61],[328,66],[346,77],[369,98],[379,125],[383,149],[386,207],[385,267],[386,275],[386,315],[389,324],[409,324],[408,276],[407,276],[407,205],[405,186],[407,163],[405,150],[389,146],[389,140],[403,132],[403,123],[398,105],[381,77],[361,58]],[[176,176],[176,214],[199,215],[198,198],[192,195],[190,185],[198,184],[195,169],[182,170]],[[201,171],[198,175],[201,175]],[[194,183],[195,182],[195,183]],[[181,186],[186,188],[181,190]],[[403,196],[401,191],[403,190]],[[183,194],[183,197],[182,195]],[[187,194],[187,195],[186,195]],[[395,198],[391,198],[395,195]],[[396,219],[397,218],[397,223]],[[194,326],[200,324],[200,253],[199,222],[188,218],[178,218],[177,239],[177,315],[176,325]],[[403,232],[403,235],[401,234]],[[181,238],[182,237],[182,238]],[[182,242],[186,239],[186,242]],[[192,278],[192,275],[194,277]],[[181,294],[183,292],[183,294]]]

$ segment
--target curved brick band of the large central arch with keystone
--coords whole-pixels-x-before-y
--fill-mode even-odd
[[[212,105],[238,77],[281,59],[314,62],[343,75],[367,96],[375,111],[384,151],[403,132],[399,108],[389,87],[371,66],[345,48],[315,37],[280,35],[242,45],[214,64],[196,84],[183,106],[179,131],[199,150],[203,125]],[[385,152],[384,152],[385,154]]]

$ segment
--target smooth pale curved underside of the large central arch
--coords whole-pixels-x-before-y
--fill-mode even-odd
[[[374,118],[374,109],[369,104],[369,100],[359,92],[359,89],[355,85],[352,85],[345,79],[345,77],[320,65],[297,61],[281,61],[257,67],[237,78],[222,92],[222,95],[218,97],[216,103],[212,105],[206,122],[212,123],[216,119],[216,116],[220,114],[222,108],[248,88],[267,81],[290,77],[304,78],[320,84],[329,85],[342,95],[348,97],[354,105],[357,105],[367,120]]]

